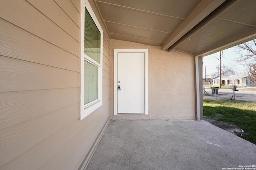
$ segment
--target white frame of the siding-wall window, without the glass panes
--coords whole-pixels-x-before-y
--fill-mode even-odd
[[[84,17],[85,8],[100,31],[100,63],[84,53]],[[102,66],[103,66],[103,30],[94,14],[88,0],[81,2],[81,27],[80,27],[80,120],[84,119],[98,107],[102,106]],[[98,99],[84,104],[84,61],[98,67]]]

